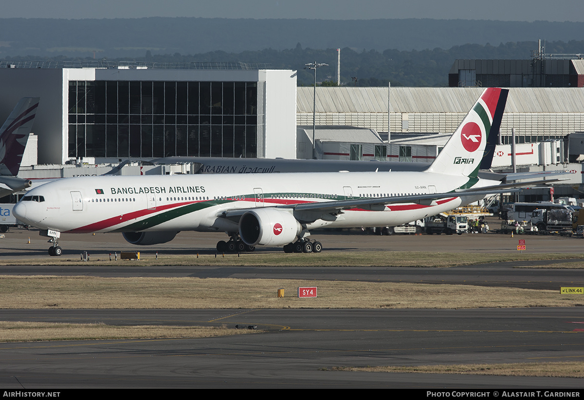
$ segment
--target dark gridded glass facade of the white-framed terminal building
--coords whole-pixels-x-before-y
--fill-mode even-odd
[[[69,81],[69,157],[261,157],[265,82]]]

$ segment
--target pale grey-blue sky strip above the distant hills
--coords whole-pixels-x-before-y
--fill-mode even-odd
[[[18,0],[3,18],[310,18],[584,21],[583,0]],[[464,33],[461,33],[464,34]]]

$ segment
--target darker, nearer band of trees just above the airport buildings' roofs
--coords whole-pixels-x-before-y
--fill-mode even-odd
[[[448,73],[455,59],[529,59],[531,52],[537,49],[536,41],[509,42],[499,45],[465,44],[447,50],[340,50],[340,85],[341,86],[447,86]],[[548,54],[584,54],[584,40],[548,42],[545,47]],[[5,61],[71,61],[93,58],[57,57],[5,57]],[[116,58],[110,61],[145,61],[145,62],[245,62],[267,63],[275,69],[293,69],[298,71],[298,86],[312,86],[314,71],[304,69],[305,64],[319,62],[328,64],[317,70],[319,85],[336,85],[336,48],[304,48],[300,43],[295,48],[273,50],[266,48],[259,51],[224,52],[211,51],[201,54],[183,55],[152,54],[145,52],[144,57]],[[356,82],[355,79],[356,78]]]

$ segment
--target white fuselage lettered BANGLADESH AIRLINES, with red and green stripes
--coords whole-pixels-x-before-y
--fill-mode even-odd
[[[78,177],[29,191],[28,196],[42,196],[44,201],[21,201],[14,212],[32,226],[61,232],[233,232],[237,222],[223,216],[228,210],[443,193],[467,181],[464,176],[407,171]],[[488,184],[494,183],[479,181],[475,187]],[[307,229],[395,226],[456,208],[461,202],[453,196],[426,205],[356,207],[335,215],[312,210],[293,213]]]

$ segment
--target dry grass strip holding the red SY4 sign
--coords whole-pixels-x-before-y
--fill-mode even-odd
[[[298,299],[297,288],[318,286]],[[285,297],[277,290],[284,288]],[[480,308],[573,307],[558,290],[394,282],[0,275],[1,308]]]

